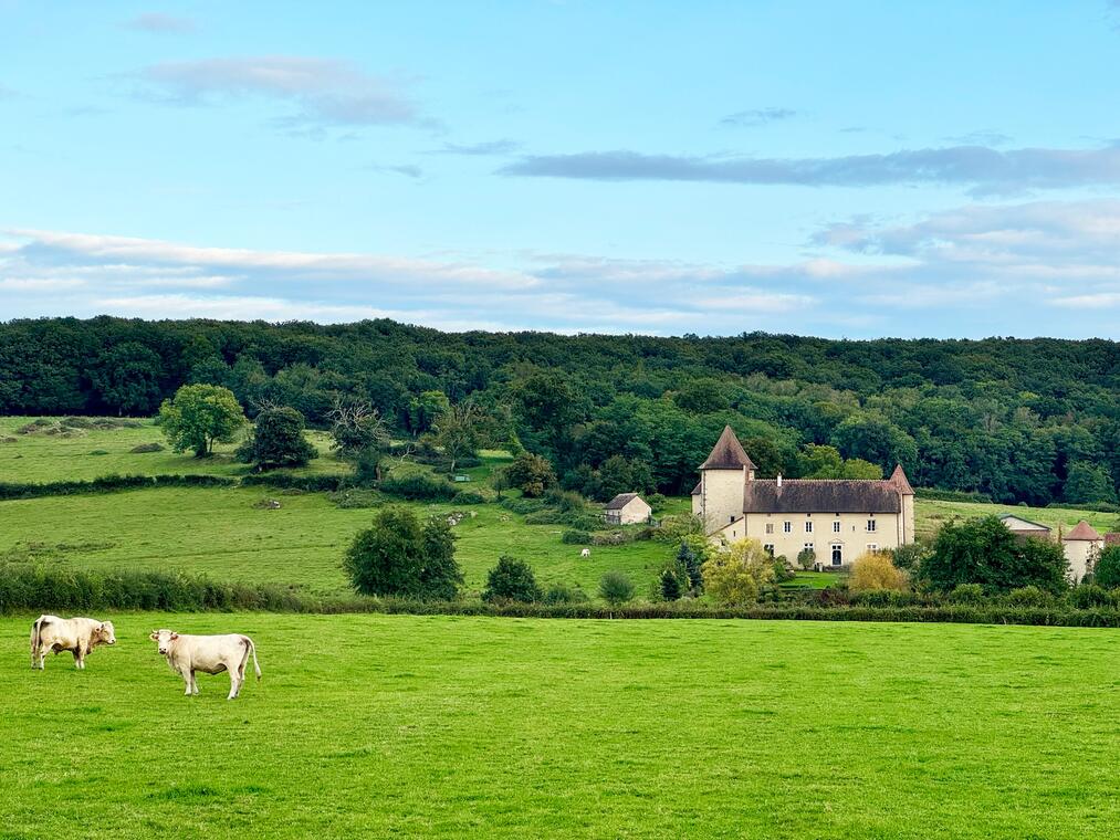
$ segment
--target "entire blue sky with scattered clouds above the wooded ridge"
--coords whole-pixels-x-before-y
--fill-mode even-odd
[[[0,320],[1117,339],[1117,80],[1110,0],[0,0]]]

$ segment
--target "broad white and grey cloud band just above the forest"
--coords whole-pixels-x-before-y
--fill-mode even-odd
[[[484,261],[0,233],[0,318],[391,317],[447,329],[1120,337],[1120,200],[971,204],[822,228],[801,259]],[[498,268],[501,265],[501,268]],[[917,312],[921,312],[918,317]]]

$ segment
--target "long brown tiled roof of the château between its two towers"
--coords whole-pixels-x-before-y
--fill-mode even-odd
[[[907,485],[908,486],[908,485]],[[831,478],[746,482],[744,513],[899,513],[902,497],[892,480]]]

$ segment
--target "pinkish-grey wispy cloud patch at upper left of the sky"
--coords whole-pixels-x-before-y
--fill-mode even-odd
[[[169,104],[197,105],[221,99],[259,96],[287,102],[289,125],[433,127],[417,105],[381,76],[349,62],[302,56],[206,58],[164,62],[136,74],[140,93]]]

